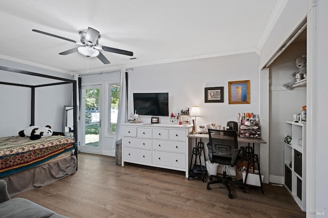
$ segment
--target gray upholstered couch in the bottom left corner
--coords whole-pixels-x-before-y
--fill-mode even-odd
[[[67,217],[59,215],[45,207],[35,204],[27,199],[13,198],[10,199],[7,184],[0,180],[0,217]]]

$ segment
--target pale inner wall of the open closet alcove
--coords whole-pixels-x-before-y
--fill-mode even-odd
[[[296,58],[306,54],[306,42],[291,45],[270,66],[270,175],[283,177],[283,128],[285,120],[301,113],[306,105],[306,86],[293,90],[281,89],[289,82],[289,76],[297,71]],[[283,180],[282,180],[283,183]]]

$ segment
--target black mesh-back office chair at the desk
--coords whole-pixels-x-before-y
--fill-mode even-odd
[[[228,181],[231,177],[227,177],[226,165],[235,166],[237,161],[241,158],[244,148],[238,149],[237,130],[209,130],[209,158],[211,163],[218,163],[223,165],[223,176],[211,175],[210,182],[207,184],[207,189],[210,190],[211,184],[223,183],[228,189],[228,197],[233,198]],[[217,180],[213,180],[213,178]]]

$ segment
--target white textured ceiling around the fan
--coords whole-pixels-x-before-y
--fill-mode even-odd
[[[103,52],[89,71],[259,51],[277,5],[283,0],[70,0],[2,1],[0,58],[85,73],[88,58],[58,53],[79,45],[32,29],[79,41],[78,30],[100,32],[99,45],[132,51]],[[125,60],[129,59],[129,60]]]

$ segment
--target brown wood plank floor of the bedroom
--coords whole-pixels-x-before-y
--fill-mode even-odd
[[[208,177],[206,178],[208,180]],[[80,153],[78,171],[45,187],[18,194],[69,217],[305,217],[284,187],[264,184],[243,193],[222,184],[206,189],[185,173],[127,164]]]

